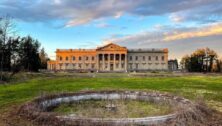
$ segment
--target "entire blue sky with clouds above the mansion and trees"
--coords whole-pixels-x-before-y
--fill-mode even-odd
[[[222,0],[0,0],[0,16],[15,19],[19,35],[56,48],[169,48],[181,58],[210,47],[222,55]]]

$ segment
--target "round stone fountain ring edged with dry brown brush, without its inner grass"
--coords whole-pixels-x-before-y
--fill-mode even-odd
[[[23,105],[19,115],[29,120],[35,120],[44,125],[155,125],[175,119],[177,111],[166,115],[145,116],[137,118],[111,118],[111,117],[84,117],[75,114],[63,115],[53,112],[54,108],[61,104],[84,102],[87,100],[134,100],[152,102],[155,104],[168,104],[173,108],[180,108],[187,111],[193,103],[185,98],[161,94],[157,92],[138,91],[83,91],[78,93],[64,93],[39,97]],[[183,106],[183,107],[181,107]],[[105,108],[110,110],[118,109],[118,105],[109,103]]]

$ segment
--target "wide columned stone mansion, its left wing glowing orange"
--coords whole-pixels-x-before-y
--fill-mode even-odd
[[[114,43],[97,49],[57,49],[48,70],[126,72],[168,70],[168,49],[127,49]]]

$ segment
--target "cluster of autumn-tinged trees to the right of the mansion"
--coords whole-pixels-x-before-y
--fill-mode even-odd
[[[222,60],[210,48],[197,49],[181,59],[182,69],[188,72],[221,72]]]

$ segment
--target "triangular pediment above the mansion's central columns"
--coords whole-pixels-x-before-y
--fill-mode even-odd
[[[110,44],[107,44],[103,47],[97,48],[97,51],[117,51],[117,50],[125,51],[127,49],[126,49],[126,47],[121,47],[121,46],[114,44],[114,43],[110,43]]]

